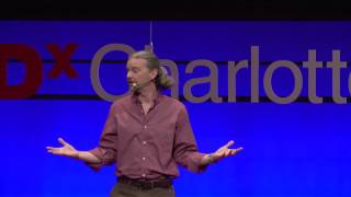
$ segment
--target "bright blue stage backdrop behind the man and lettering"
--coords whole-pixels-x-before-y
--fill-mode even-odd
[[[116,182],[115,166],[95,173],[81,162],[47,153],[45,147],[59,147],[59,137],[79,150],[98,146],[111,102],[93,89],[91,60],[107,44],[144,49],[150,42],[149,28],[149,21],[0,22],[1,53],[9,46],[26,46],[42,65],[42,69],[33,71],[38,82],[30,99],[0,101],[0,196],[109,195]],[[229,140],[236,141],[234,147],[244,147],[238,155],[210,166],[203,174],[181,169],[174,185],[177,195],[351,196],[351,67],[340,69],[340,77],[335,79],[327,67],[327,61],[332,61],[332,50],[339,50],[340,60],[350,63],[350,32],[351,22],[337,21],[154,21],[154,51],[160,59],[177,65],[180,100],[188,107],[200,151],[215,151]],[[236,82],[228,78],[228,61],[252,63],[252,47],[259,50],[261,97],[258,103],[250,100],[249,69],[238,71]],[[315,50],[317,61],[322,61],[322,68],[316,71],[316,94],[324,96],[321,104],[308,100],[310,76],[303,67],[308,60],[308,49]],[[59,56],[70,60],[71,72],[60,66],[65,62],[59,60],[65,58]],[[127,91],[126,58],[123,51],[103,57],[99,76],[105,92],[121,95]],[[215,63],[218,83],[214,90],[223,102],[193,103],[184,97],[186,82],[216,74],[202,66],[186,73],[189,63],[196,59]],[[269,65],[276,60],[294,62],[302,73],[302,90],[288,104],[270,101],[263,85]],[[25,83],[29,68],[15,58],[7,59],[7,66],[3,65],[0,95],[5,97],[4,91]],[[338,92],[349,103],[333,101],[336,80],[340,85]],[[237,102],[228,102],[228,84],[234,83]],[[293,72],[286,67],[274,71],[271,84],[282,97],[296,86]],[[210,91],[210,82],[194,85],[191,91],[195,96],[203,96]]]

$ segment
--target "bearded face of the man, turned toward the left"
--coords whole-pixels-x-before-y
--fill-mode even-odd
[[[131,58],[127,61],[126,69],[128,86],[132,91],[136,91],[136,86],[133,84],[146,84],[157,76],[157,71],[155,69],[150,70],[147,67],[147,60],[141,58]]]

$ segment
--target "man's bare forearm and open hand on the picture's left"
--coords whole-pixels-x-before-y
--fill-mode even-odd
[[[60,148],[46,147],[47,152],[53,154],[73,158],[77,160],[81,160],[88,163],[101,163],[100,159],[98,159],[94,154],[88,151],[78,151],[71,144],[67,143],[63,138],[58,138],[58,141],[64,146]]]

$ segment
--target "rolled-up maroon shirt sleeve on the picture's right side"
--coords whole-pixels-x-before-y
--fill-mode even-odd
[[[177,163],[194,173],[202,173],[207,165],[201,165],[201,160],[205,153],[197,151],[196,141],[189,120],[189,115],[182,105],[176,124],[173,158]]]

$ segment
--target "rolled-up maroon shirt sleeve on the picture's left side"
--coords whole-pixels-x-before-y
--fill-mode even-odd
[[[116,106],[113,104],[110,107],[109,116],[105,121],[99,146],[89,152],[100,159],[100,163],[86,163],[92,170],[99,171],[103,165],[115,163],[117,153],[117,130],[115,119]]]

